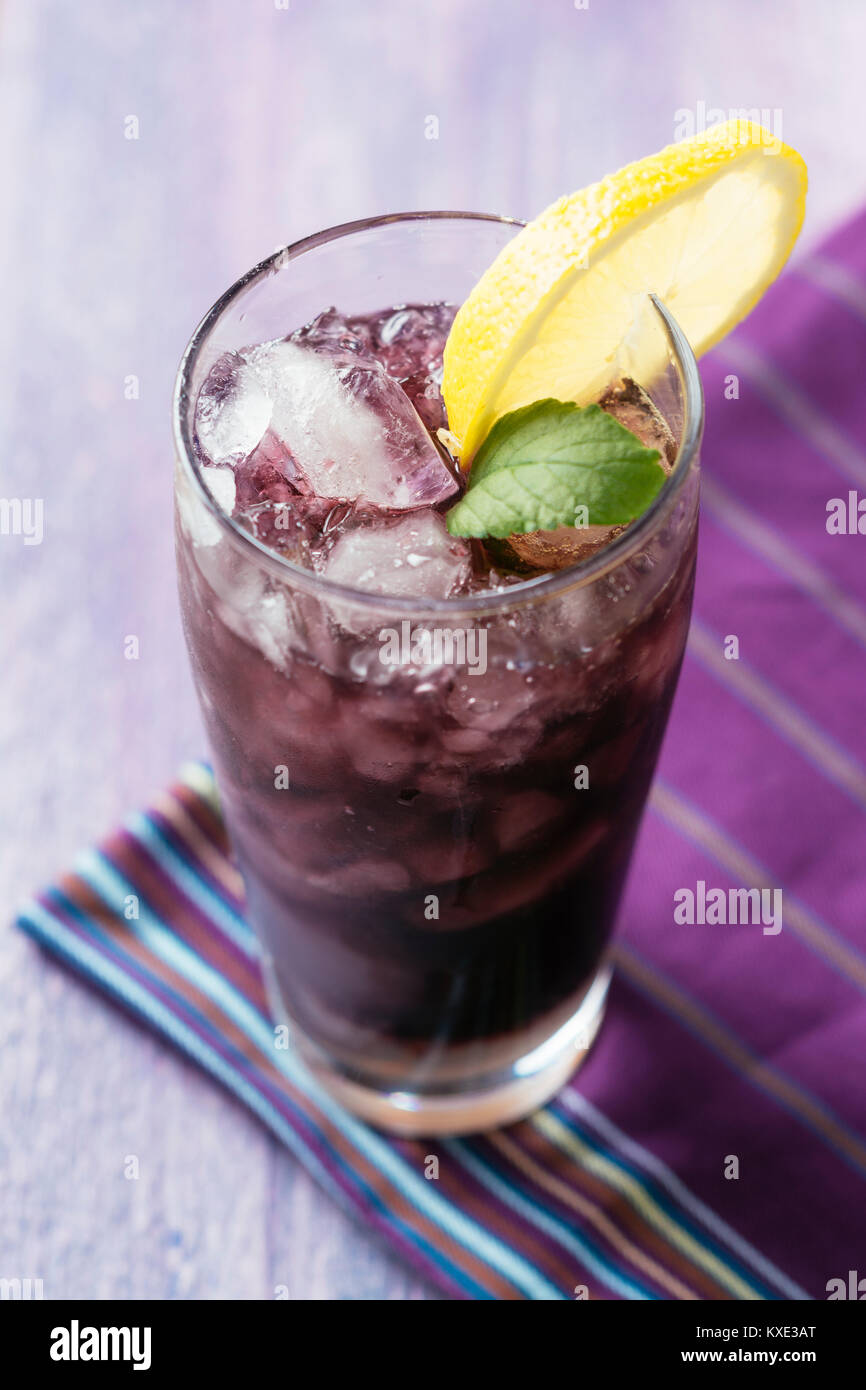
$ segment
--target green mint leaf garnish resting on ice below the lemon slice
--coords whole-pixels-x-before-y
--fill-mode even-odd
[[[506,537],[574,525],[619,525],[646,510],[664,482],[659,450],[601,406],[535,400],[496,421],[468,488],[446,516],[461,537]]]

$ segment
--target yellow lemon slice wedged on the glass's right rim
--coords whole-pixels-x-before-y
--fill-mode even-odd
[[[696,354],[712,348],[778,275],[805,200],[799,154],[727,121],[553,203],[503,247],[448,336],[442,393],[463,463],[509,410],[598,399],[630,335],[634,371],[651,292]],[[645,382],[657,353],[648,346],[641,367],[638,352]]]

